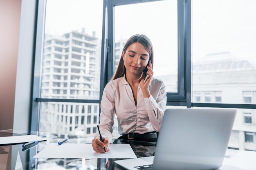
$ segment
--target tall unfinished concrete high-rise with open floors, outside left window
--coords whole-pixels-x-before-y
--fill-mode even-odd
[[[71,31],[62,37],[45,35],[41,97],[99,99],[101,40]],[[42,102],[40,131],[93,135],[99,104]]]

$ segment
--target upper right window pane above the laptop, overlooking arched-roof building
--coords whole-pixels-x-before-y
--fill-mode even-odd
[[[191,4],[192,102],[255,104],[254,0],[193,0]],[[219,91],[216,99],[210,99]],[[218,95],[218,96],[216,96]]]

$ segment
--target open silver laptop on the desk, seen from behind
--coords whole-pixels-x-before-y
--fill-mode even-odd
[[[117,160],[128,170],[213,170],[225,157],[236,109],[167,109],[154,157]]]

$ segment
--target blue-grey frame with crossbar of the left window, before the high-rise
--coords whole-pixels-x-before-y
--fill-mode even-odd
[[[71,102],[71,103],[94,103],[100,104],[101,96],[99,99],[49,99],[49,98],[41,98],[40,97],[40,82],[41,82],[41,64],[42,64],[42,55],[43,55],[43,45],[44,45],[44,28],[45,28],[45,11],[46,11],[46,1],[47,0],[38,0],[37,3],[37,11],[36,11],[36,35],[35,35],[35,46],[34,46],[34,63],[33,63],[33,71],[32,71],[32,89],[31,89],[31,108],[30,108],[30,125],[29,129],[32,131],[38,131],[39,129],[39,117],[40,117],[40,103],[41,102]],[[102,25],[102,41],[101,41],[101,49],[107,49],[105,40],[105,15],[106,15],[106,0],[103,0],[103,25]],[[105,58],[106,51],[101,51],[101,76],[100,76],[100,92],[101,89],[106,84],[106,62]],[[100,110],[100,109],[99,109]]]

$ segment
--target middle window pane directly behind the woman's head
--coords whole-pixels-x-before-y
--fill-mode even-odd
[[[168,92],[177,93],[177,1],[117,5],[113,11],[115,68],[126,40],[134,34],[144,34],[153,43],[154,76],[164,80]]]

